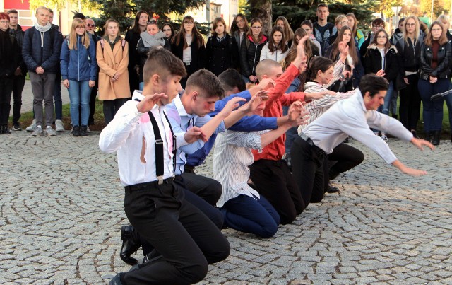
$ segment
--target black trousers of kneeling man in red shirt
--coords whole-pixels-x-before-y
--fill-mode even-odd
[[[287,162],[261,159],[249,167],[254,185],[278,211],[282,224],[292,223],[305,208]]]

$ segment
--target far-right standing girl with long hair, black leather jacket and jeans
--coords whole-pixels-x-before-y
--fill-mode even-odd
[[[434,21],[421,45],[420,74],[417,83],[422,99],[426,140],[432,139],[434,146],[439,145],[441,136],[444,98],[432,101],[430,97],[448,91],[451,57],[452,48],[447,40],[446,28],[440,21]]]

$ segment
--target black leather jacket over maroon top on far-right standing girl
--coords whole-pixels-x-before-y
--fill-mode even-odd
[[[447,78],[450,74],[450,62],[452,57],[451,44],[446,42],[444,45],[439,46],[438,50],[438,66],[436,69],[432,69],[432,47],[425,45],[422,42],[420,52],[420,74],[419,78],[429,80],[429,76],[441,78]]]

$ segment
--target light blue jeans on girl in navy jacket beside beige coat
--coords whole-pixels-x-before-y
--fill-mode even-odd
[[[69,100],[71,100],[71,120],[72,125],[80,126],[78,121],[80,115],[78,114],[78,106],[82,111],[81,124],[88,126],[88,118],[90,117],[90,95],[91,88],[89,86],[90,81],[76,81],[69,80]]]

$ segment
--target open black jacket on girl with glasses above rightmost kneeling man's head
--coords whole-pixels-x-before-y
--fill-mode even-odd
[[[385,72],[384,78],[389,82],[395,81],[398,74],[397,49],[393,45],[389,47],[384,56],[384,66],[381,66],[381,52],[376,45],[367,47],[364,55],[364,74],[376,74],[380,69]]]

